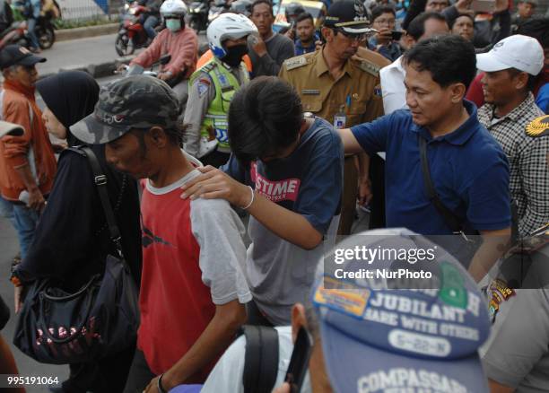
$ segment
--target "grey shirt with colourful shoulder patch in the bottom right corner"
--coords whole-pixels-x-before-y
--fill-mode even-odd
[[[492,336],[481,349],[488,378],[518,393],[549,389],[549,245],[532,255],[521,289],[505,281],[488,291],[496,311]],[[490,287],[489,287],[490,288]],[[495,292],[495,296],[494,296]]]

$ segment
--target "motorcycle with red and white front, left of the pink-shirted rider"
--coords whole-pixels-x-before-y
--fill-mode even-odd
[[[143,5],[133,2],[126,4],[125,13],[122,15],[118,29],[115,48],[118,56],[132,55],[137,48],[145,48],[148,44],[148,36],[141,23],[141,14],[146,9]]]

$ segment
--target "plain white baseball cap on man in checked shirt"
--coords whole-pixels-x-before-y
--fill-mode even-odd
[[[544,67],[544,48],[537,39],[516,34],[501,39],[488,53],[476,55],[476,67],[488,73],[516,68],[537,75]]]

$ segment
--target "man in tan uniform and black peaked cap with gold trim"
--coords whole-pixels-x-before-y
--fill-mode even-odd
[[[339,0],[332,4],[321,32],[326,44],[315,53],[286,60],[279,75],[300,94],[303,110],[325,118],[336,128],[352,127],[381,116],[381,65],[355,56],[374,32],[362,2]],[[345,158],[339,234],[349,234],[353,224],[359,183],[357,162],[363,175],[362,194],[368,189],[369,159],[364,155],[359,158]]]

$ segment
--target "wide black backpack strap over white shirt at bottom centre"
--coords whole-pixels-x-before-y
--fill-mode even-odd
[[[244,393],[271,393],[278,375],[278,332],[274,327],[241,327],[246,336]]]

